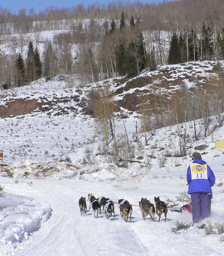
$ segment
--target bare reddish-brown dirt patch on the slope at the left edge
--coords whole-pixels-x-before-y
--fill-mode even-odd
[[[0,118],[29,114],[40,105],[41,103],[37,102],[36,99],[15,99],[4,106],[0,105]]]

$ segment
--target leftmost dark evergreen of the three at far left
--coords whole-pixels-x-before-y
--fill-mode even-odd
[[[26,67],[20,53],[18,53],[17,58],[15,59],[15,83],[18,87],[26,83]]]

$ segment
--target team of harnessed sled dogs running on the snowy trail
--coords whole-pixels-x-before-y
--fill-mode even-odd
[[[95,198],[94,195],[89,194],[88,195],[89,199],[89,209],[90,207],[93,208],[93,214],[94,217],[98,217],[99,213],[105,214],[106,218],[108,219],[109,217],[114,214],[114,202],[110,200],[109,198],[105,197],[99,197]],[[146,198],[142,198],[141,201],[139,202],[139,207],[142,212],[143,220],[145,220],[146,216],[149,215],[151,217],[151,221],[154,221],[155,219],[155,212],[159,216],[159,221],[161,218],[162,213],[165,215],[165,221],[166,221],[166,215],[167,215],[167,205],[160,200],[160,197],[154,197],[155,201],[155,207],[154,204],[152,204],[149,200]],[[132,206],[131,204],[127,201],[124,200],[124,198],[118,200],[119,204],[119,209],[120,209],[120,215],[122,216],[123,220],[125,222],[128,221],[128,217],[131,221],[131,214],[132,214]],[[87,211],[87,205],[86,205],[86,198],[81,197],[79,199],[79,208],[81,215],[84,215]]]

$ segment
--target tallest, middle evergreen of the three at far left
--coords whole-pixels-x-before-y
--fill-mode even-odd
[[[35,57],[32,41],[29,41],[26,57],[26,78],[28,82],[35,80]]]

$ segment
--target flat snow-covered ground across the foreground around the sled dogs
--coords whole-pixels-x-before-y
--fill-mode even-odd
[[[215,175],[218,175],[215,166],[212,164]],[[17,204],[23,201],[23,197],[27,199],[26,208],[30,204],[31,198],[38,198],[41,205],[46,202],[50,204],[52,216],[47,222],[42,222],[41,228],[31,233],[29,236],[19,232],[23,227],[27,226],[27,217],[24,218],[24,207],[20,205],[21,212],[17,213],[15,223],[15,215],[8,216],[8,236],[14,238],[14,243],[10,241],[5,244],[3,238],[6,237],[6,230],[2,229],[0,255],[16,255],[16,256],[97,256],[97,255],[122,255],[122,256],[140,256],[140,255],[182,255],[183,250],[187,250],[188,255],[220,255],[224,250],[224,243],[220,240],[222,235],[212,234],[205,235],[204,229],[199,229],[197,225],[187,230],[180,230],[177,233],[171,231],[172,227],[176,227],[177,219],[180,222],[190,223],[192,216],[188,212],[178,213],[169,211],[167,221],[158,222],[156,216],[155,221],[151,222],[147,217],[143,221],[139,207],[133,206],[132,221],[125,223],[119,215],[118,205],[115,204],[115,214],[108,220],[105,215],[99,215],[98,218],[93,217],[92,209],[88,209],[86,215],[81,216],[78,201],[81,196],[87,198],[88,193],[92,193],[96,197],[107,196],[115,202],[119,198],[125,198],[131,204],[138,205],[142,197],[147,197],[154,203],[154,196],[160,195],[160,199],[177,202],[176,196],[180,192],[186,191],[186,181],[182,177],[163,177],[161,179],[151,178],[142,182],[127,181],[82,181],[82,180],[26,180],[19,179],[18,183],[13,182],[14,179],[0,177],[0,183],[4,186],[7,193],[16,193],[19,195]],[[32,182],[32,185],[30,183]],[[11,194],[6,194],[5,198],[9,199]],[[22,199],[21,199],[22,198]],[[29,201],[28,201],[29,200]],[[211,223],[223,223],[223,187],[215,186],[213,188],[212,215],[209,218]],[[28,203],[29,202],[29,203]],[[32,204],[37,204],[32,201]],[[171,203],[173,204],[173,203]],[[179,202],[178,208],[183,205]],[[38,206],[39,207],[39,204]],[[88,207],[88,204],[87,204]],[[8,207],[9,208],[9,207]],[[3,220],[4,212],[0,211]],[[41,208],[42,209],[42,208]],[[39,214],[43,215],[44,210],[39,209]],[[47,209],[49,209],[47,207]],[[29,219],[33,218],[35,223],[36,209],[30,209]],[[18,222],[18,221],[17,221]],[[208,225],[207,220],[204,222]],[[30,224],[34,229],[34,225]],[[24,228],[25,229],[25,228]],[[25,231],[25,230],[24,230]],[[28,233],[32,231],[29,229]],[[33,230],[35,231],[35,230]],[[217,231],[214,228],[214,231]],[[27,231],[26,231],[27,232]],[[16,241],[24,239],[22,242]]]

